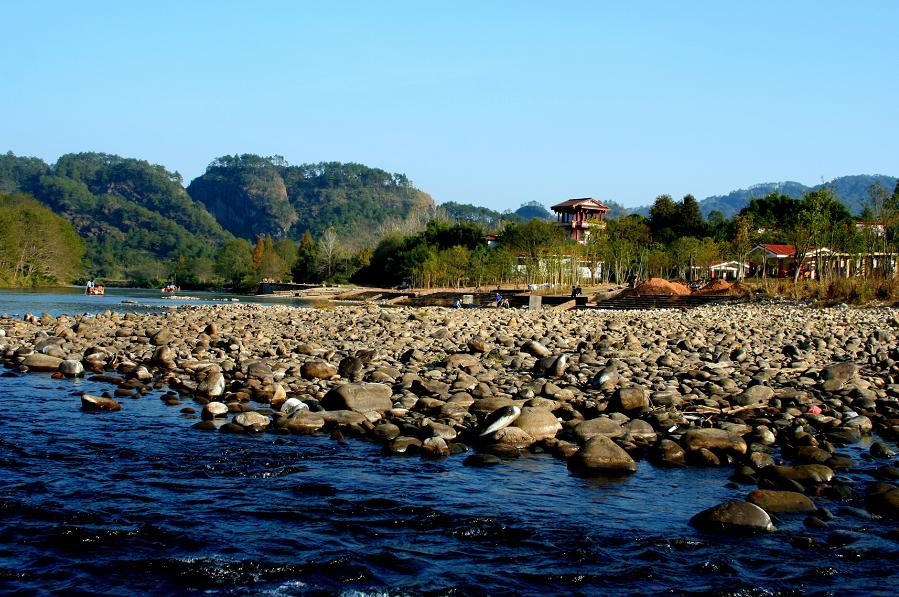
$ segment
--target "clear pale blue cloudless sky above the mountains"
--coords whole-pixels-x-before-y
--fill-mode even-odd
[[[899,175],[899,2],[0,4],[0,151],[361,162],[438,202]]]

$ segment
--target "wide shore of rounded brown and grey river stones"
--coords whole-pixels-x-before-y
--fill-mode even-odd
[[[88,410],[163,400],[202,430],[366,438],[396,454],[499,464],[550,452],[575,474],[730,466],[746,500],[694,517],[759,532],[816,496],[859,497],[838,448],[899,438],[899,311],[733,305],[688,312],[184,306],[0,318],[13,371],[88,375]],[[6,375],[14,374],[12,372]],[[2,380],[0,380],[2,386]],[[123,407],[124,404],[124,407]],[[865,454],[873,517],[899,518],[887,443]]]

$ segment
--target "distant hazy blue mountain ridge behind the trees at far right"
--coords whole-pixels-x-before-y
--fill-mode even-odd
[[[738,189],[727,195],[707,197],[699,202],[699,208],[706,217],[713,211],[720,211],[725,218],[730,218],[749,205],[749,201],[752,198],[761,198],[769,193],[780,193],[794,199],[800,199],[804,193],[826,186],[833,191],[837,199],[846,206],[850,213],[859,214],[869,200],[868,189],[877,182],[888,190],[896,186],[895,177],[865,174],[841,176],[814,187],[807,187],[801,183],[791,181],[768,182],[753,185],[748,189]]]

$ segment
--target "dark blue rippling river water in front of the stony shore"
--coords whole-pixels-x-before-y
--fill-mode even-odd
[[[29,309],[40,312],[42,309]],[[0,377],[0,593],[894,595],[899,524],[861,499],[776,533],[689,518],[753,489],[730,470],[585,479],[537,455],[493,468],[326,437],[191,429],[162,392],[88,413],[89,379]],[[892,446],[895,448],[895,445]],[[860,443],[841,475],[864,492]],[[856,470],[856,469],[854,469]]]

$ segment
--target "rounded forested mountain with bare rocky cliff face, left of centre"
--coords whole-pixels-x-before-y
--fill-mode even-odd
[[[244,238],[298,240],[333,227],[347,239],[375,240],[388,219],[434,209],[431,197],[402,174],[339,162],[289,166],[280,156],[220,157],[187,191]]]

